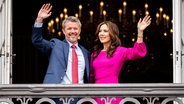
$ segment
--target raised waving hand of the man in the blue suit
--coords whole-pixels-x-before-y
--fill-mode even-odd
[[[42,23],[45,18],[48,18],[52,14],[51,9],[52,5],[50,5],[50,3],[43,4],[38,12],[36,22]]]

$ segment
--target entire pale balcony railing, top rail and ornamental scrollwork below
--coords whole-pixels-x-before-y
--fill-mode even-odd
[[[183,104],[184,84],[2,84],[0,103],[8,104],[69,104],[73,98],[80,98],[77,104],[97,104],[94,98],[101,98],[111,104],[122,97],[119,104]],[[112,103],[113,104],[113,103]]]

